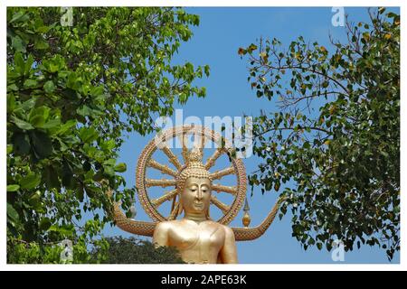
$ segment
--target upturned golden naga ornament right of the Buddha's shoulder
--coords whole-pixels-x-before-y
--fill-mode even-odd
[[[264,232],[270,227],[274,218],[276,218],[277,212],[279,211],[279,205],[284,200],[285,198],[280,198],[276,202],[269,215],[261,222],[259,226],[255,228],[232,228],[236,241],[249,241],[260,238],[260,236],[263,235]]]

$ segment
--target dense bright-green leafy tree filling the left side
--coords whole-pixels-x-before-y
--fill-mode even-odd
[[[75,7],[65,26],[63,13],[7,8],[7,231],[10,244],[38,246],[39,263],[63,238],[74,240],[75,262],[90,261],[87,246],[111,221],[96,212],[111,208],[105,191],[126,185],[126,164],[116,162],[124,133],[146,135],[175,101],[204,97],[192,82],[209,74],[171,63],[199,24],[194,14]],[[133,195],[121,190],[116,200],[128,210]],[[80,222],[84,213],[93,219]]]

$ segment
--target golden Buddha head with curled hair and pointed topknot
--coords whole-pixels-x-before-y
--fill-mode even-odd
[[[187,162],[176,178],[176,187],[180,195],[180,210],[186,214],[204,213],[209,219],[212,180],[202,163],[202,152],[193,149]]]

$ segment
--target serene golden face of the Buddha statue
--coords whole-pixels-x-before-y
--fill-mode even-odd
[[[181,200],[185,213],[203,213],[209,210],[211,200],[211,180],[187,178]]]

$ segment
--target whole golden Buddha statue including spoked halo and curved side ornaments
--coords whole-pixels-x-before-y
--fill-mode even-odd
[[[231,158],[232,165],[229,168],[217,172],[209,172],[214,162],[223,153],[230,153],[225,146],[218,147],[215,153],[203,163],[204,141],[201,145],[195,145],[189,151],[183,142],[183,165],[166,146],[166,141],[174,136],[181,135],[184,140],[187,134],[198,134],[202,139],[209,138],[213,142],[219,141],[219,135],[201,126],[174,127],[162,133],[160,137],[147,144],[141,154],[137,165],[137,193],[143,208],[155,222],[138,221],[128,219],[120,210],[119,205],[114,203],[113,215],[116,225],[125,231],[137,235],[153,237],[157,247],[176,247],[186,263],[194,264],[232,264],[237,263],[236,241],[260,238],[270,227],[275,218],[279,200],[269,215],[260,226],[249,228],[250,215],[248,204],[244,206],[242,219],[243,228],[229,228],[226,226],[239,212],[246,193],[246,174],[241,159]],[[177,171],[165,164],[157,163],[152,155],[160,149],[173,163]],[[173,180],[151,180],[146,177],[147,167],[155,168],[173,177]],[[227,174],[236,174],[237,185],[233,187],[221,184],[213,184],[213,180],[219,180]],[[172,191],[167,191],[162,197],[150,200],[147,188],[151,186],[175,186]],[[228,206],[213,196],[213,191],[231,193],[235,200]],[[111,192],[110,192],[111,193]],[[168,217],[163,216],[157,208],[163,202],[173,200],[171,213]],[[210,217],[210,205],[214,204],[223,212],[223,217],[213,220]],[[176,219],[184,211],[182,219]]]

